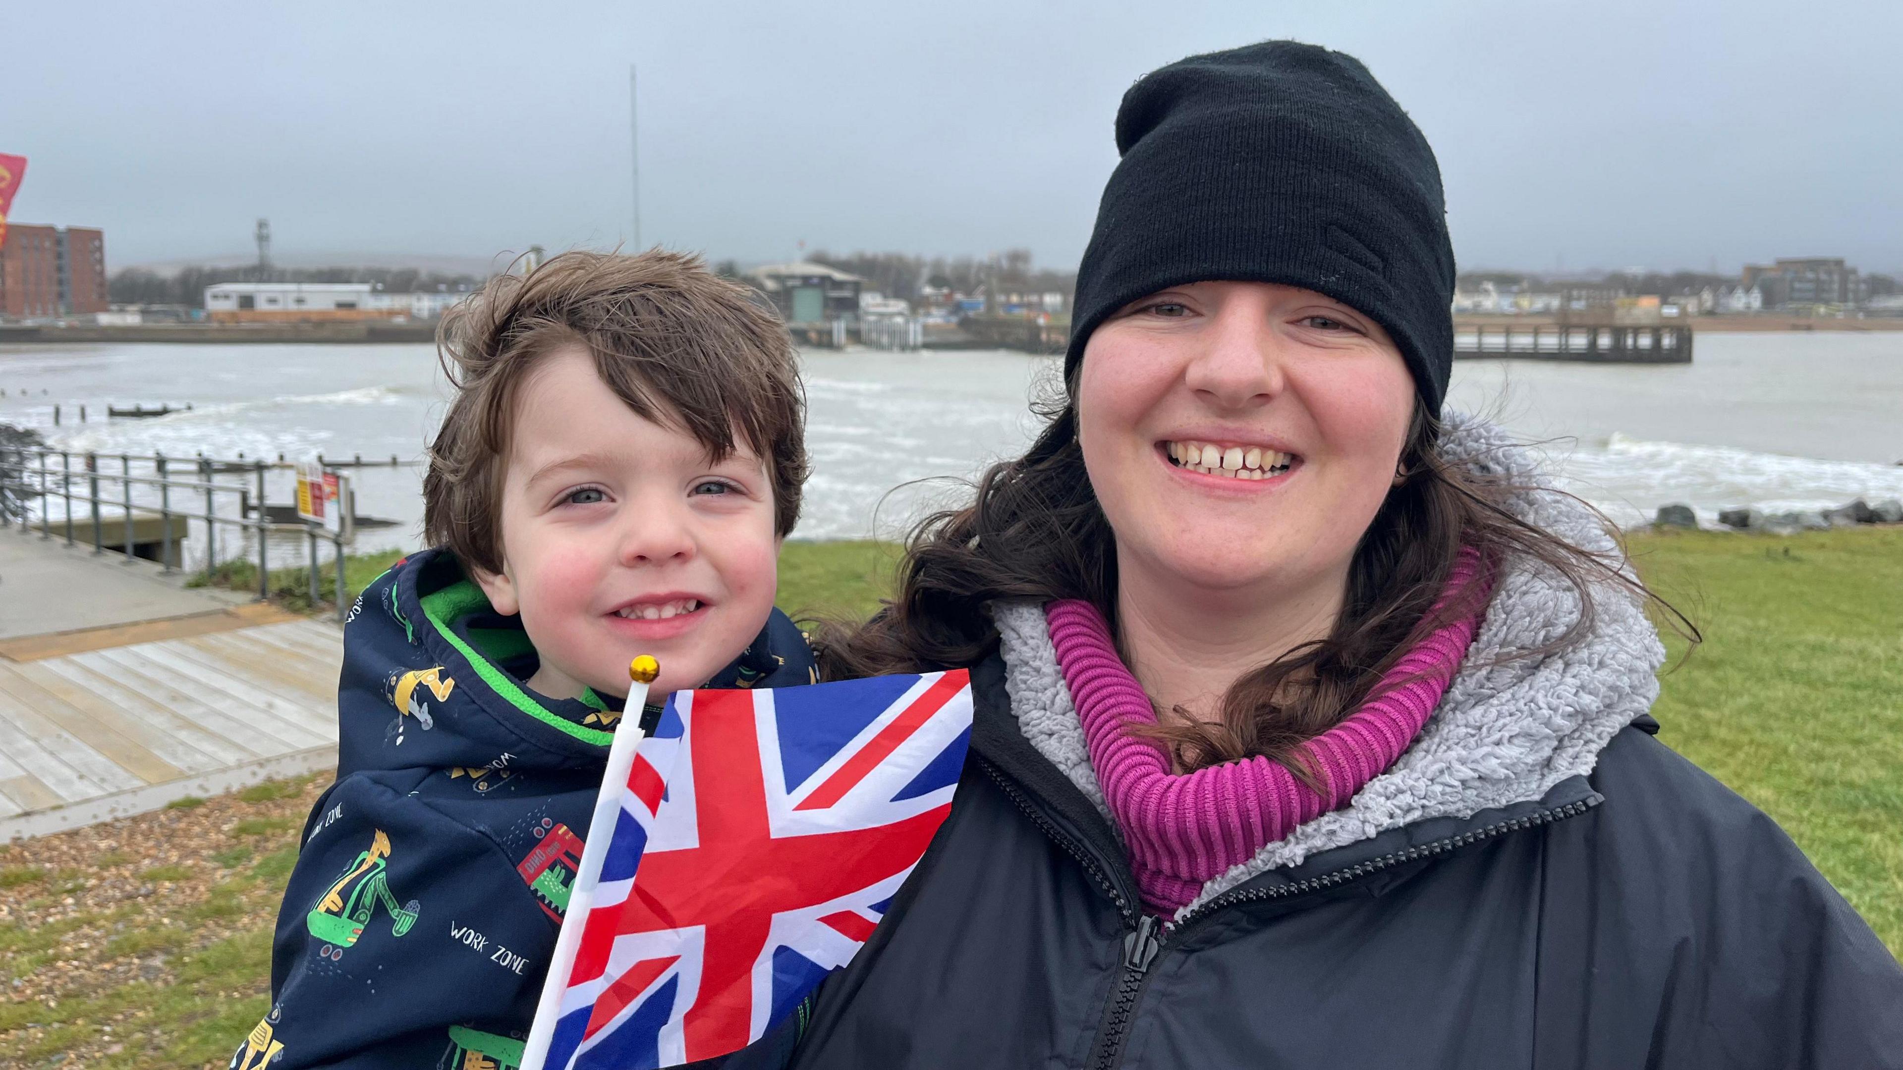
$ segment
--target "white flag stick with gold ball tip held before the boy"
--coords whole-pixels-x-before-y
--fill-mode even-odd
[[[582,861],[575,872],[575,887],[569,891],[569,908],[561,916],[556,954],[548,960],[542,998],[535,1003],[535,1024],[529,1026],[529,1040],[521,1051],[521,1070],[542,1070],[542,1062],[548,1060],[548,1041],[554,1040],[556,1019],[561,1017],[561,996],[569,990],[569,971],[575,969],[575,952],[580,948],[582,927],[588,925],[588,910],[594,906],[596,883],[601,880],[601,855],[607,855],[615,824],[620,822],[620,800],[628,792],[634,752],[647,735],[641,731],[641,710],[647,706],[647,685],[655,682],[655,676],[660,676],[660,663],[645,653],[628,664],[628,680],[632,680],[628,701],[622,704],[615,743],[607,750],[607,771],[601,775],[596,813],[588,821],[588,840],[582,843]]]

